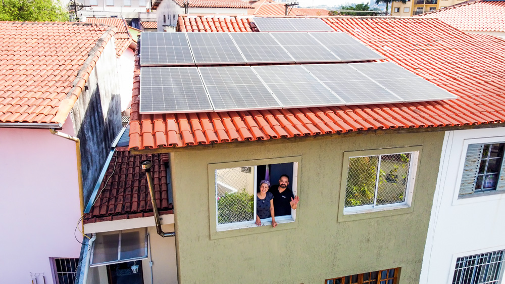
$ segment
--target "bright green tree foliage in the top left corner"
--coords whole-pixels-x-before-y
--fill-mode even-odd
[[[0,21],[68,21],[68,12],[52,0],[2,0]]]

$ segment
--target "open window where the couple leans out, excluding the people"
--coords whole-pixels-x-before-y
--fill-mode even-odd
[[[216,232],[258,227],[257,193],[261,180],[269,180],[271,188],[281,175],[289,176],[288,188],[298,193],[298,160],[269,159],[209,165],[211,226]],[[286,192],[287,193],[287,192]],[[296,210],[289,215],[275,216],[278,224],[294,222]],[[272,218],[261,219],[262,227],[271,226]],[[214,229],[212,230],[214,231]]]

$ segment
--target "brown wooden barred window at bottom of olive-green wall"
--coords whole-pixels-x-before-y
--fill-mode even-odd
[[[373,272],[354,274],[333,279],[326,279],[325,284],[396,284],[400,268],[391,268]]]

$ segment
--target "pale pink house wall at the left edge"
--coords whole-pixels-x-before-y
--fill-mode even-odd
[[[75,135],[70,117],[62,132]],[[75,142],[48,129],[0,128],[0,160],[0,283],[31,283],[30,272],[53,283],[49,258],[79,258],[81,248]]]

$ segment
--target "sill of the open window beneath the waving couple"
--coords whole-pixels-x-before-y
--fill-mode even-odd
[[[272,218],[261,219],[261,226],[257,226],[254,221],[219,226],[217,231],[211,231],[211,240],[253,233],[262,233],[273,230],[292,229],[298,226],[298,222],[296,222],[296,220],[293,220],[291,215],[279,216],[275,219],[277,222],[277,226],[275,228],[272,227]]]

